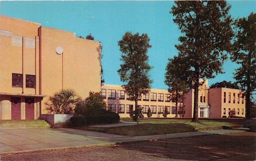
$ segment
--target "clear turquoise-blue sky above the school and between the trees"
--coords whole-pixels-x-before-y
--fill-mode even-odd
[[[256,12],[256,1],[228,1],[232,18],[248,17]],[[147,33],[150,38],[149,65],[153,66],[151,88],[167,89],[164,84],[168,58],[178,55],[175,44],[182,35],[173,23],[170,10],[174,1],[0,1],[0,14],[41,23],[86,37],[89,33],[100,41],[104,84],[122,85],[117,70],[121,52],[117,42],[125,32]],[[208,84],[223,80],[234,82],[234,72],[239,66],[226,60],[225,74],[208,79]]]

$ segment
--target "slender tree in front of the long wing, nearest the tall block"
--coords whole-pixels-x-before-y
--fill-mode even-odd
[[[122,40],[118,41],[118,45],[122,52],[120,60],[124,63],[120,65],[121,68],[117,72],[121,81],[126,83],[122,85],[125,92],[132,101],[135,101],[135,111],[137,113],[139,111],[138,97],[141,94],[148,93],[152,83],[148,75],[152,67],[148,65],[147,55],[148,48],[151,48],[151,45],[149,45],[147,34],[143,33],[140,36],[139,33],[133,35],[131,32],[126,32]],[[139,114],[136,116],[139,116]]]

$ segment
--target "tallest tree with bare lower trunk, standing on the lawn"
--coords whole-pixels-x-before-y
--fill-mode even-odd
[[[175,45],[179,58],[187,64],[190,82],[194,88],[192,122],[198,122],[198,87],[202,78],[214,78],[223,73],[222,64],[231,51],[233,37],[232,19],[228,15],[230,5],[226,1],[175,1],[170,13],[175,16],[183,36]]]

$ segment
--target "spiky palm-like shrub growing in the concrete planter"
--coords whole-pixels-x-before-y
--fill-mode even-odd
[[[44,104],[48,113],[68,114],[76,108],[81,100],[74,90],[63,89],[50,96],[48,102],[44,102]]]

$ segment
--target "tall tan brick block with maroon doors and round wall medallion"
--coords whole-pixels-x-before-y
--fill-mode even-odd
[[[61,89],[100,91],[100,42],[0,16],[0,119],[37,119]]]

